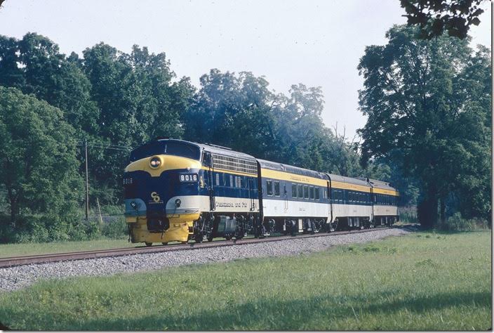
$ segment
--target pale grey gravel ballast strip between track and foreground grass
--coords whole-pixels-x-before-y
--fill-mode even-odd
[[[111,258],[81,259],[57,263],[0,268],[0,291],[12,291],[32,285],[38,280],[61,279],[79,275],[112,275],[156,270],[190,263],[211,263],[242,258],[291,256],[328,249],[335,245],[364,243],[388,236],[408,233],[401,228],[376,229],[368,233],[328,235],[327,237],[291,238],[276,242],[242,244],[228,247],[189,249],[178,252],[133,254]]]

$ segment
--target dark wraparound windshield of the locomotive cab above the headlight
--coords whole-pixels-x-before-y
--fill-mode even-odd
[[[139,148],[135,148],[131,152],[131,162],[152,155],[175,155],[199,161],[201,158],[201,150],[198,146],[183,141],[153,141],[152,143],[147,143]]]

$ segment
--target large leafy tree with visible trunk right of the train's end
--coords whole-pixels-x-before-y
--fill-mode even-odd
[[[446,218],[451,192],[467,193],[465,179],[479,181],[476,190],[490,188],[489,169],[481,169],[490,156],[490,55],[485,49],[472,54],[468,39],[425,41],[415,34],[394,26],[385,46],[366,47],[358,69],[364,79],[359,105],[368,121],[359,133],[364,161],[393,159],[417,179],[419,218],[433,226],[439,204]],[[463,200],[485,214],[490,190],[479,202]]]

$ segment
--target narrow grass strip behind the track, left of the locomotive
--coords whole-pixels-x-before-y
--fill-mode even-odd
[[[138,245],[140,244],[129,243],[127,238],[117,240],[0,244],[0,258],[6,258],[9,256],[29,256],[34,254],[87,251],[95,249],[116,249],[119,247],[135,247]]]

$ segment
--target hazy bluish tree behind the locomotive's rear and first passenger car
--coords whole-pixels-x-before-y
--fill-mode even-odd
[[[224,145],[255,156],[272,149],[272,108],[276,96],[250,72],[211,70],[185,115],[185,138]]]

